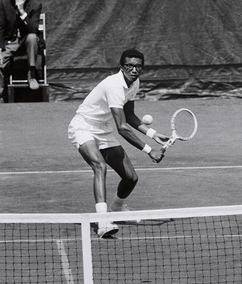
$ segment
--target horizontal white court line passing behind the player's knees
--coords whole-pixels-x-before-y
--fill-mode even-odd
[[[164,171],[164,170],[197,170],[197,169],[227,169],[242,168],[242,166],[211,166],[211,167],[175,167],[175,168],[136,168],[136,171]],[[107,171],[114,171],[109,169]],[[93,170],[76,170],[76,171],[4,171],[0,175],[26,175],[26,174],[68,174],[68,173],[89,173]]]

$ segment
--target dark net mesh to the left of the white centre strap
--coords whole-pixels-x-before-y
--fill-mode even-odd
[[[0,224],[0,283],[82,279],[80,224]]]

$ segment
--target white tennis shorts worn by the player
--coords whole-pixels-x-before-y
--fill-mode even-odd
[[[96,122],[76,114],[68,127],[68,138],[79,149],[79,145],[94,140],[99,149],[119,146],[113,135],[113,127],[109,122]]]

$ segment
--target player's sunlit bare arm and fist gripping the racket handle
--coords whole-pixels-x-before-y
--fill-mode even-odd
[[[137,137],[137,135],[127,125],[124,110],[122,108],[114,108],[113,107],[113,108],[111,108],[111,112],[112,112],[114,121],[116,123],[118,133],[125,140],[127,140],[131,145],[135,146],[139,150],[144,149],[145,146],[146,146],[146,143],[143,142],[141,139],[139,139],[139,137]],[[157,162],[160,162],[162,160],[162,158],[164,157],[164,154],[163,154],[162,151],[156,151],[154,149],[152,149],[148,153],[148,155],[150,156],[150,158],[156,160]]]

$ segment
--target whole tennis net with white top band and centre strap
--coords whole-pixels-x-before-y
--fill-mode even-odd
[[[0,283],[242,283],[242,205],[0,219]]]

